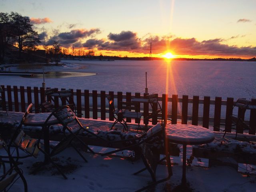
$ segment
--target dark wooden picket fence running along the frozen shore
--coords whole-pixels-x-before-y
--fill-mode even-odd
[[[39,113],[39,107],[41,102],[49,100],[44,95],[44,88],[30,86],[24,87],[20,86],[4,86],[2,85],[2,98],[4,103],[8,106],[8,111],[15,112],[25,112],[26,106],[33,103],[34,110]],[[62,90],[65,90],[62,88]],[[84,118],[93,118],[101,120],[113,121],[113,114],[108,110],[109,105],[106,99],[107,96],[111,95],[115,98],[115,103],[118,104],[122,100],[130,102],[132,98],[146,98],[146,94],[135,93],[132,95],[131,92],[117,92],[114,94],[113,91],[106,93],[105,91],[98,92],[97,90],[72,90],[74,94],[74,103],[76,104],[76,110],[78,114],[84,114]],[[234,98],[227,98],[227,100],[222,100],[221,97],[215,97],[215,100],[210,100],[209,96],[204,96],[204,99],[199,99],[199,96],[193,96],[193,98],[188,98],[187,95],[183,95],[182,98],[178,98],[178,95],[172,95],[168,97],[167,94],[162,94],[158,96],[158,99],[162,105],[162,114],[159,114],[164,120],[167,118],[172,119],[172,124],[176,124],[181,121],[182,124],[192,123],[193,125],[201,124],[205,128],[209,126],[214,126],[214,131],[220,131],[220,124],[225,123],[226,130],[231,132],[231,118],[232,108],[234,104]],[[256,104],[256,99],[252,99],[252,103]],[[5,110],[5,104],[3,109]],[[59,105],[65,105],[66,100],[60,100],[58,97],[54,98],[55,107]],[[188,106],[192,105],[192,115],[188,115]],[[181,107],[181,113],[178,114],[178,106]],[[200,107],[199,107],[200,106]],[[214,112],[212,111],[212,116],[210,116],[210,106],[214,106]],[[117,108],[120,106],[117,105]],[[202,116],[198,115],[199,108],[202,109]],[[223,111],[224,108],[224,111]],[[144,112],[144,116],[150,112],[149,104],[141,104],[141,111]],[[221,112],[225,113],[224,118],[221,118]],[[239,110],[238,110],[239,113]],[[222,115],[223,116],[223,115]],[[255,134],[256,132],[256,110],[250,110],[250,116],[247,123],[250,126],[249,134]],[[81,115],[78,115],[81,117]],[[244,118],[244,117],[242,117]],[[127,122],[131,122],[128,119]],[[157,119],[152,120],[152,124],[156,124]],[[144,120],[144,123],[148,123]],[[243,133],[243,130],[239,130],[238,133]]]

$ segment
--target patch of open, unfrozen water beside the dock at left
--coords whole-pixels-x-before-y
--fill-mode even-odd
[[[84,73],[84,72],[63,72],[63,71],[51,71],[44,74],[44,78],[68,78],[68,77],[84,77],[92,76],[96,73]],[[43,74],[33,74],[32,76],[23,76],[26,78],[43,78]]]

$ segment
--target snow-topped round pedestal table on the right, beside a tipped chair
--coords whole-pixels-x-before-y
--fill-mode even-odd
[[[188,124],[166,125],[166,137],[170,142],[183,145],[182,185],[186,185],[186,148],[187,145],[210,143],[214,133],[202,126]]]

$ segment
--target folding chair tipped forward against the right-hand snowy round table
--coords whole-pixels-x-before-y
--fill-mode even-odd
[[[170,144],[168,140],[166,140],[164,123],[156,124],[139,138],[133,139],[133,141],[136,141],[135,142],[136,144],[132,144],[130,146],[102,154],[102,156],[113,154],[123,150],[128,150],[128,149],[140,151],[141,158],[143,160],[145,168],[134,173],[134,175],[137,175],[143,172],[144,170],[148,170],[153,182],[148,186],[145,186],[137,190],[136,192],[146,190],[149,187],[154,186],[160,182],[169,180],[170,177],[172,176],[172,166],[170,162],[170,150],[169,150]],[[160,160],[160,148],[163,148],[162,150],[164,151],[164,154],[165,154],[165,157],[162,158],[161,160]],[[164,160],[166,161],[168,176],[166,178],[157,180],[156,179],[157,165]]]

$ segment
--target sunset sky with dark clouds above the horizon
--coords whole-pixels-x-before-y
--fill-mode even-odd
[[[46,44],[110,56],[252,58],[256,0],[0,0],[30,17]]]

